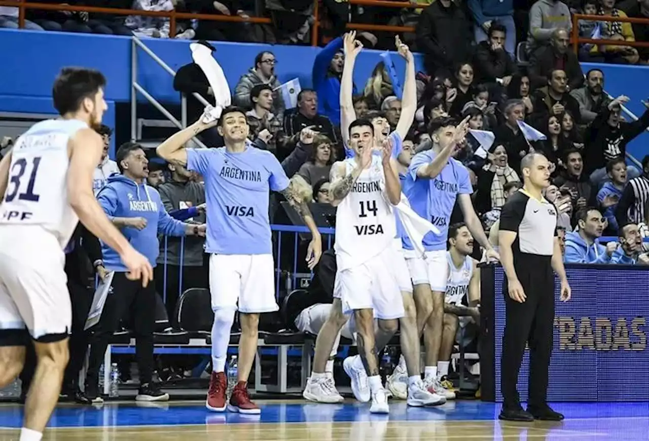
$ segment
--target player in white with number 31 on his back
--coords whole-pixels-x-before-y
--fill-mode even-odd
[[[30,336],[38,358],[20,441],[42,438],[61,390],[72,321],[63,250],[77,222],[117,250],[130,278],[153,278],[93,195],[105,84],[98,71],[62,69],[52,91],[61,118],[36,123],[0,162],[0,387],[21,371]]]

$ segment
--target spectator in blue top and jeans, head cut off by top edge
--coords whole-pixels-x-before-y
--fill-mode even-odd
[[[505,34],[505,51],[514,58],[516,51],[516,25],[514,24],[513,0],[469,0],[469,10],[476,23],[476,43],[488,40],[487,33],[491,25],[498,21],[507,29]]]

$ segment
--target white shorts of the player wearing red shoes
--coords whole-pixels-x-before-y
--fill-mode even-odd
[[[275,262],[272,254],[212,254],[210,256],[212,311],[239,309],[241,313],[278,311],[275,301]]]

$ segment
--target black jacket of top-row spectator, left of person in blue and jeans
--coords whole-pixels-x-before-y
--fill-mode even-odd
[[[416,32],[417,47],[424,53],[431,75],[440,67],[452,69],[455,64],[469,60],[472,23],[454,2],[448,8],[441,1],[427,6],[421,12]]]

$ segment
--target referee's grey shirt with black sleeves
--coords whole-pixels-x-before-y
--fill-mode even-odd
[[[554,205],[545,198],[533,197],[524,189],[511,195],[500,211],[500,231],[517,233],[511,250],[518,263],[522,263],[526,255],[552,257],[556,227]]]

